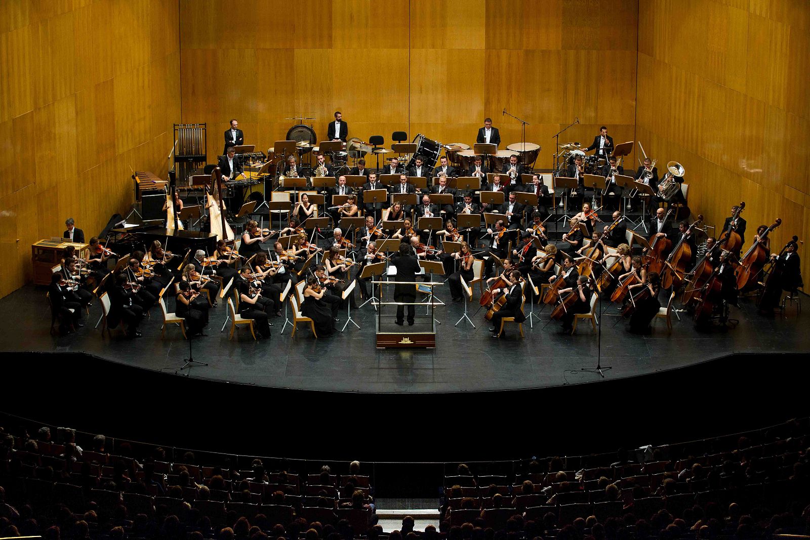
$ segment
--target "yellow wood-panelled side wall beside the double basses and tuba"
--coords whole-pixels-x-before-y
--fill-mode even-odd
[[[777,218],[772,249],[808,241],[810,3],[642,0],[638,28],[637,138],[684,165],[693,214],[722,227],[744,201],[747,242]]]

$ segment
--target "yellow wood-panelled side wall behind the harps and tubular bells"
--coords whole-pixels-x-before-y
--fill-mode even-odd
[[[164,175],[180,117],[177,0],[0,2],[0,296],[31,244],[73,217],[87,239]]]

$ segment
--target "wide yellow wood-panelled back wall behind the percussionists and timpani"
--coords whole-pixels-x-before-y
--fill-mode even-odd
[[[318,140],[340,110],[349,136],[403,130],[445,144],[475,142],[484,117],[502,147],[593,141],[599,125],[633,140],[637,2],[607,0],[181,0],[186,122],[209,125],[208,160],[236,117],[266,151],[315,117]],[[307,123],[310,123],[309,121]],[[373,163],[376,164],[376,159]],[[382,164],[382,163],[381,163]]]

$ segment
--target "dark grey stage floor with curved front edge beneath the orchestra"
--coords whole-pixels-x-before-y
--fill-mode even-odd
[[[232,341],[228,328],[220,333],[227,314],[224,302],[211,310],[207,337],[194,339],[194,359],[208,366],[194,366],[191,376],[214,381],[230,381],[271,388],[310,389],[344,392],[464,392],[501,389],[542,388],[601,381],[598,374],[582,372],[593,367],[599,351],[597,333],[590,321],[581,321],[576,334],[561,334],[560,323],[548,321],[550,308],[538,313],[540,320],[524,324],[526,338],[520,338],[514,325],[509,337],[492,339],[482,310],[471,304],[473,329],[462,321],[463,304],[450,303],[447,287],[438,287],[437,297],[446,306],[437,306],[437,347],[433,350],[375,348],[376,313],[370,305],[352,309],[360,330],[349,324],[344,333],[329,338],[313,338],[301,324],[295,338],[291,327],[279,334],[283,318],[274,323],[270,340],[254,342],[241,328]],[[476,298],[477,298],[476,293]],[[654,321],[650,335],[629,334],[625,321],[613,316],[616,307],[603,304],[601,364],[607,380],[643,375],[685,365],[698,364],[734,352],[810,351],[810,318],[796,316],[765,318],[757,315],[752,300],[742,300],[741,309],[731,308],[731,317],[740,319],[736,328],[697,332],[692,320],[681,313],[673,315],[672,331],[663,319]],[[173,308],[173,300],[169,301]],[[529,305],[526,306],[527,316]],[[102,336],[100,304],[94,302],[87,325],[66,337],[49,335],[50,313],[44,287],[26,286],[0,300],[6,313],[6,331],[0,334],[0,351],[84,352],[111,362],[129,364],[156,372],[175,373],[189,354],[179,327],[171,325],[160,338],[160,306],[152,308],[151,319],[141,325],[143,338],[126,339],[120,330],[112,338]],[[539,307],[535,306],[535,313]],[[417,317],[426,308],[417,308]],[[340,314],[338,329],[347,314]],[[405,325],[403,330],[409,327]],[[3,355],[6,362],[12,355]],[[763,368],[767,368],[763,366]]]

